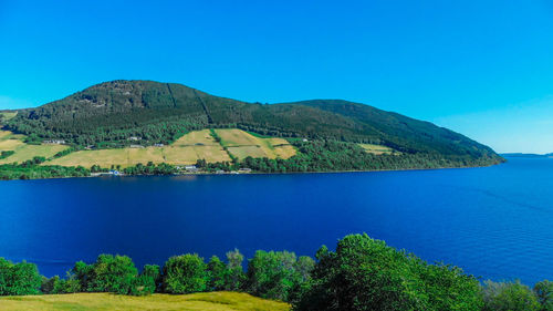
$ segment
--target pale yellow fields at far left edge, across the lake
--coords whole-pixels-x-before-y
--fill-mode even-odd
[[[52,157],[56,153],[69,148],[63,145],[29,145],[23,143],[23,135],[15,135],[11,132],[0,131],[0,152],[13,151],[13,155],[0,159],[0,164],[24,162],[32,159],[35,156],[43,156],[45,158]]]

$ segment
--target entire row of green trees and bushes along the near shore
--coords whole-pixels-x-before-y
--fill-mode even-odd
[[[0,294],[226,290],[286,301],[294,310],[553,310],[553,282],[533,289],[519,281],[481,284],[457,267],[429,265],[367,235],[346,236],[335,251],[323,246],[315,258],[259,250],[244,271],[238,250],[208,262],[187,253],[139,272],[126,256],[101,255],[90,265],[76,262],[65,278],[41,277],[33,263],[0,258]]]

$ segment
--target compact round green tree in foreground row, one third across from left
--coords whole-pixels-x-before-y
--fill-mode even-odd
[[[197,253],[170,257],[165,262],[163,274],[163,288],[168,293],[191,293],[207,289],[207,265]]]

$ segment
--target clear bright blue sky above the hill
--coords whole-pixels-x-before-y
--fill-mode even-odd
[[[0,0],[0,108],[115,79],[344,99],[553,152],[552,1]]]

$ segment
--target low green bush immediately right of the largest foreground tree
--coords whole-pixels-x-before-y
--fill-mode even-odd
[[[484,311],[533,311],[540,303],[532,290],[520,281],[486,281],[482,289]]]

